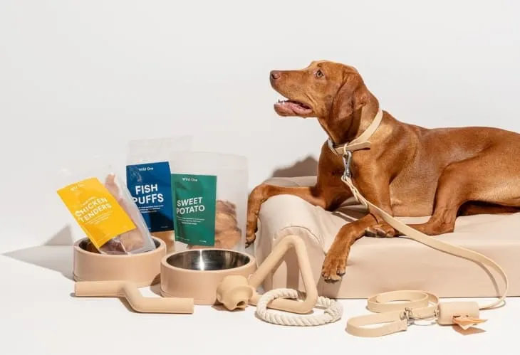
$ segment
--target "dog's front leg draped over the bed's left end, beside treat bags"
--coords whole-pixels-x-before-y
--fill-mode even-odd
[[[325,183],[326,187],[322,187]],[[246,246],[251,245],[256,238],[256,228],[260,206],[268,198],[277,195],[293,195],[303,198],[313,206],[326,210],[336,208],[341,202],[351,196],[350,191],[341,184],[328,183],[321,179],[316,186],[275,186],[261,184],[249,194],[247,203]]]

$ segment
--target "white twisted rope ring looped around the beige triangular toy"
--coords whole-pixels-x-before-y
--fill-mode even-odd
[[[273,309],[267,309],[267,304],[276,298],[298,299],[300,295],[301,292],[288,288],[279,288],[266,292],[256,304],[256,315],[260,319],[272,324],[297,327],[312,327],[333,323],[341,318],[343,307],[339,302],[327,297],[318,297],[318,302],[316,302],[316,307],[325,307],[323,314],[320,315],[281,314],[274,312]]]

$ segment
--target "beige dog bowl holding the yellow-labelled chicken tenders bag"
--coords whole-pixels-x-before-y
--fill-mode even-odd
[[[160,280],[161,260],[166,244],[153,238],[155,249],[134,255],[105,255],[87,250],[88,238],[74,244],[73,276],[76,281],[130,281],[137,287]]]

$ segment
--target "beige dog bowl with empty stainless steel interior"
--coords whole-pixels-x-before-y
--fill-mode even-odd
[[[234,250],[209,248],[172,253],[161,260],[161,295],[218,304],[217,287],[229,275],[249,277],[256,259]]]

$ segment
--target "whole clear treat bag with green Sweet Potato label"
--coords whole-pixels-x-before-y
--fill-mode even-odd
[[[170,158],[177,250],[245,249],[247,160],[187,152]]]

